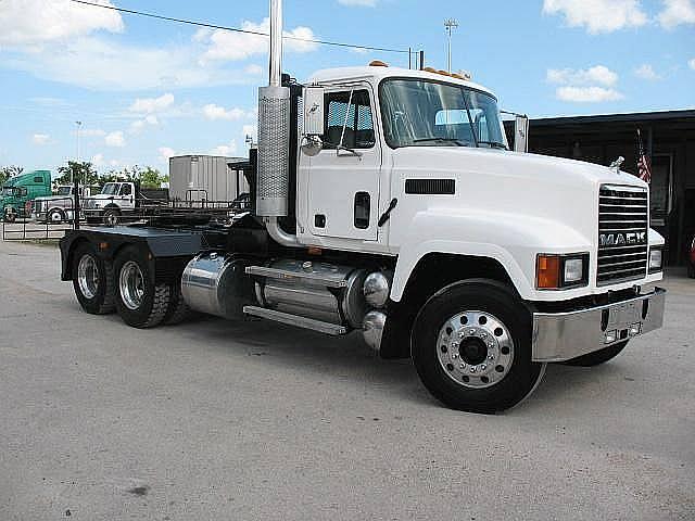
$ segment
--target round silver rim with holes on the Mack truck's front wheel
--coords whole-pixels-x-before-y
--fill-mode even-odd
[[[485,389],[509,373],[514,340],[494,315],[466,310],[450,317],[441,327],[437,353],[442,369],[457,384]]]

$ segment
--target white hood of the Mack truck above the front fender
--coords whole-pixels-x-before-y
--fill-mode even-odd
[[[405,193],[414,212],[477,215],[493,224],[519,223],[519,227],[525,221],[527,227],[547,229],[548,246],[571,242],[595,246],[602,185],[647,188],[635,176],[615,168],[494,149],[414,147],[397,149],[392,157],[393,181],[401,190],[407,179],[456,182],[453,198]]]

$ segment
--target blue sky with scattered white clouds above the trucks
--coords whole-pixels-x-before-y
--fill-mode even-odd
[[[93,0],[267,31],[266,0]],[[425,50],[532,117],[695,109],[695,0],[285,0],[295,38]],[[407,52],[286,40],[283,69]],[[100,173],[167,171],[179,154],[245,156],[267,38],[157,21],[70,0],[0,0],[0,166],[55,170],[79,153]],[[79,126],[79,147],[75,122]],[[79,150],[78,150],[79,148]]]

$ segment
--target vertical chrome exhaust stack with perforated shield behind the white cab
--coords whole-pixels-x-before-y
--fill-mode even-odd
[[[282,87],[282,0],[270,0],[269,85],[258,89],[256,215],[288,214],[290,89]],[[265,219],[269,228],[277,219]],[[273,232],[270,232],[273,236]]]

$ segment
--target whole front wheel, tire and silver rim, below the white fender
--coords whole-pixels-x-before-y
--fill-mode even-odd
[[[440,291],[418,315],[413,340],[422,383],[453,409],[508,409],[545,372],[545,364],[531,361],[530,313],[495,281],[464,281]]]

